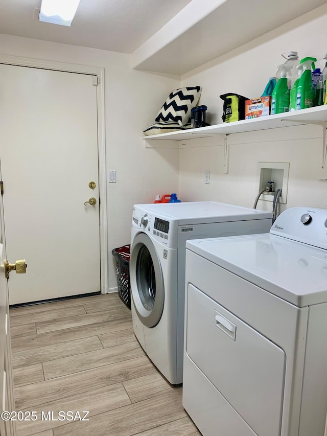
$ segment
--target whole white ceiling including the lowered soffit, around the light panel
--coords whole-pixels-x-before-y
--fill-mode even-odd
[[[127,53],[136,70],[180,76],[327,5],[326,0],[273,4],[274,8],[268,0],[80,0],[72,26],[65,27],[39,21],[41,0],[0,0],[0,33]]]

